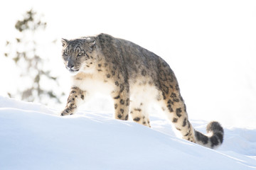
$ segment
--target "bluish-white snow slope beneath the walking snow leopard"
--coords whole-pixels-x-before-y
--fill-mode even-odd
[[[256,169],[256,129],[225,128],[223,145],[213,150],[177,138],[156,115],[152,128],[112,115],[61,117],[0,96],[0,169]],[[191,123],[205,132],[206,121]]]

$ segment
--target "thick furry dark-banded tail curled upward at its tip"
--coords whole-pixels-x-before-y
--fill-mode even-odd
[[[206,127],[206,135],[195,130],[196,143],[212,149],[223,143],[224,130],[220,123],[210,122]]]

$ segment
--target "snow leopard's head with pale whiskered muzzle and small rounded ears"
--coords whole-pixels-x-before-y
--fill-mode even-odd
[[[62,57],[66,69],[75,75],[86,72],[95,63],[95,40],[92,38],[78,38],[74,40],[62,39]]]

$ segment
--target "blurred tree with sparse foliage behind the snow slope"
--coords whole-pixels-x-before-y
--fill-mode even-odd
[[[14,60],[21,70],[22,81],[25,81],[25,86],[19,86],[16,94],[8,93],[10,97],[18,97],[24,101],[37,101],[44,104],[48,104],[48,99],[50,98],[60,103],[59,98],[64,95],[63,92],[56,94],[53,89],[46,89],[43,86],[46,84],[50,84],[50,87],[53,85],[58,86],[58,78],[52,76],[50,70],[45,70],[43,66],[46,60],[43,60],[38,55],[36,33],[45,30],[46,25],[46,22],[41,21],[41,16],[38,16],[31,9],[25,13],[21,21],[17,21],[15,24],[19,37],[15,38],[13,43],[6,41],[6,47],[11,50],[4,53],[4,55]],[[16,52],[12,50],[14,45]]]

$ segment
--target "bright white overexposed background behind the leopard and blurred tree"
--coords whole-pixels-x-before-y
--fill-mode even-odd
[[[170,64],[190,118],[256,128],[256,1],[1,1],[1,96],[26,84],[17,82],[18,72],[4,57],[4,47],[16,36],[16,21],[31,7],[47,22],[38,38],[41,52],[50,58],[48,67],[60,74],[67,93],[60,38],[108,33]],[[46,43],[55,38],[57,45]]]

